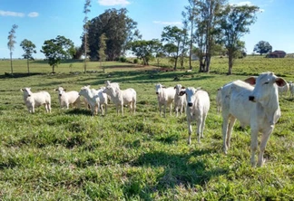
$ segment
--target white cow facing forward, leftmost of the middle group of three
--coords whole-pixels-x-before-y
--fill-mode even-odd
[[[171,115],[171,105],[174,100],[175,90],[173,87],[165,88],[162,84],[158,83],[155,85],[155,90],[157,94],[158,106],[160,110],[160,115],[162,117],[162,105],[164,105],[163,113],[165,116],[166,106],[170,106]]]

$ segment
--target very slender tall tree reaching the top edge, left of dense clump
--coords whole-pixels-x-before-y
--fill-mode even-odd
[[[83,37],[84,37],[84,43],[83,43],[83,72],[85,73],[87,71],[87,55],[88,55],[88,41],[87,41],[87,35],[88,35],[88,29],[89,29],[89,24],[88,24],[88,13],[90,12],[90,7],[91,7],[91,0],[85,0],[85,3],[83,5]]]

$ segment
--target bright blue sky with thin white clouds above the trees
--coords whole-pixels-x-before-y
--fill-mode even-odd
[[[20,43],[30,40],[36,45],[34,58],[44,58],[40,53],[45,40],[64,35],[81,45],[83,33],[83,5],[85,0],[0,0],[0,59],[9,58],[7,36],[12,25],[17,24],[14,58],[21,58]],[[247,53],[252,53],[254,45],[269,42],[273,50],[294,53],[294,0],[230,0],[230,4],[257,5],[260,7],[257,22],[250,26],[250,34],[245,41]],[[181,27],[181,12],[188,0],[92,0],[92,19],[103,14],[106,9],[126,7],[128,15],[138,23],[142,39],[161,38],[163,27]]]

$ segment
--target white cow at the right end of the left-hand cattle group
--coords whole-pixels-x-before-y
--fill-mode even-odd
[[[119,110],[121,110],[123,116],[123,105],[129,105],[130,113],[135,114],[137,93],[132,88],[120,90],[112,85],[108,85],[103,90],[103,93],[111,97],[111,100],[115,104],[117,114],[119,114]]]

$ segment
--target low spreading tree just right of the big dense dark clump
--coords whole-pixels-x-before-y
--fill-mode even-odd
[[[151,41],[134,41],[129,43],[130,50],[137,56],[138,59],[143,61],[144,65],[149,65],[149,61],[153,58],[158,46],[161,45],[159,40],[153,39]]]

